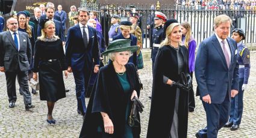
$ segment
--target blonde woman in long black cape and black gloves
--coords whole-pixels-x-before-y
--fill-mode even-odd
[[[155,58],[147,137],[187,137],[189,86],[180,84],[182,72],[191,79],[188,50],[180,41],[180,23],[172,23]]]

